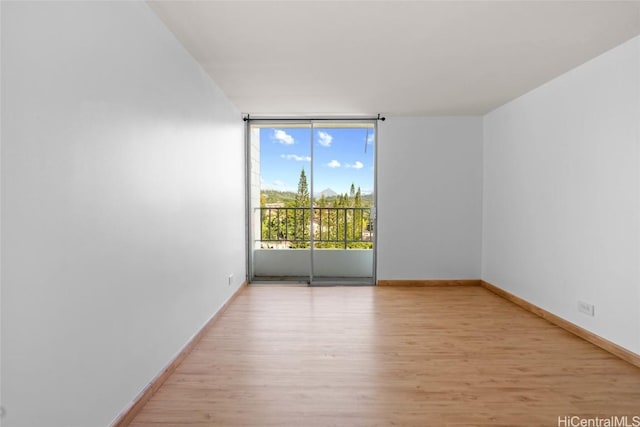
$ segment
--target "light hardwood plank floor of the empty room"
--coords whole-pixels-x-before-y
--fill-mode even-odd
[[[640,369],[478,286],[246,288],[132,426],[640,417]]]

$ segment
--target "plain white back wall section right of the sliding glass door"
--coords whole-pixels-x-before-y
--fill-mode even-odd
[[[477,279],[482,118],[379,124],[378,279]]]

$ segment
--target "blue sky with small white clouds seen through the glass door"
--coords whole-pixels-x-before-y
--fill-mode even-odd
[[[366,128],[313,129],[313,191],[347,193],[353,182],[363,193],[373,192],[373,134],[369,128],[367,143]],[[310,128],[260,129],[262,188],[297,191],[303,168],[310,180],[310,135]]]

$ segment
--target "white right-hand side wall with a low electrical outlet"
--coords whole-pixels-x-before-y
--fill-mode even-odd
[[[639,62],[636,38],[485,116],[482,267],[484,280],[636,353]]]

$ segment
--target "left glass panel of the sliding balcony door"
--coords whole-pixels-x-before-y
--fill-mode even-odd
[[[250,129],[251,280],[308,283],[311,125]]]

